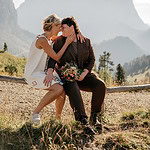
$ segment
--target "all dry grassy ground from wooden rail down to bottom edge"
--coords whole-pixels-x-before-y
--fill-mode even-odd
[[[28,85],[0,81],[0,150],[24,149],[150,149],[150,94],[113,93],[105,98],[103,133],[90,137],[74,121],[68,98],[62,122],[55,103],[41,112],[42,125],[31,126],[30,114],[45,94]],[[91,93],[82,92],[90,115]]]

